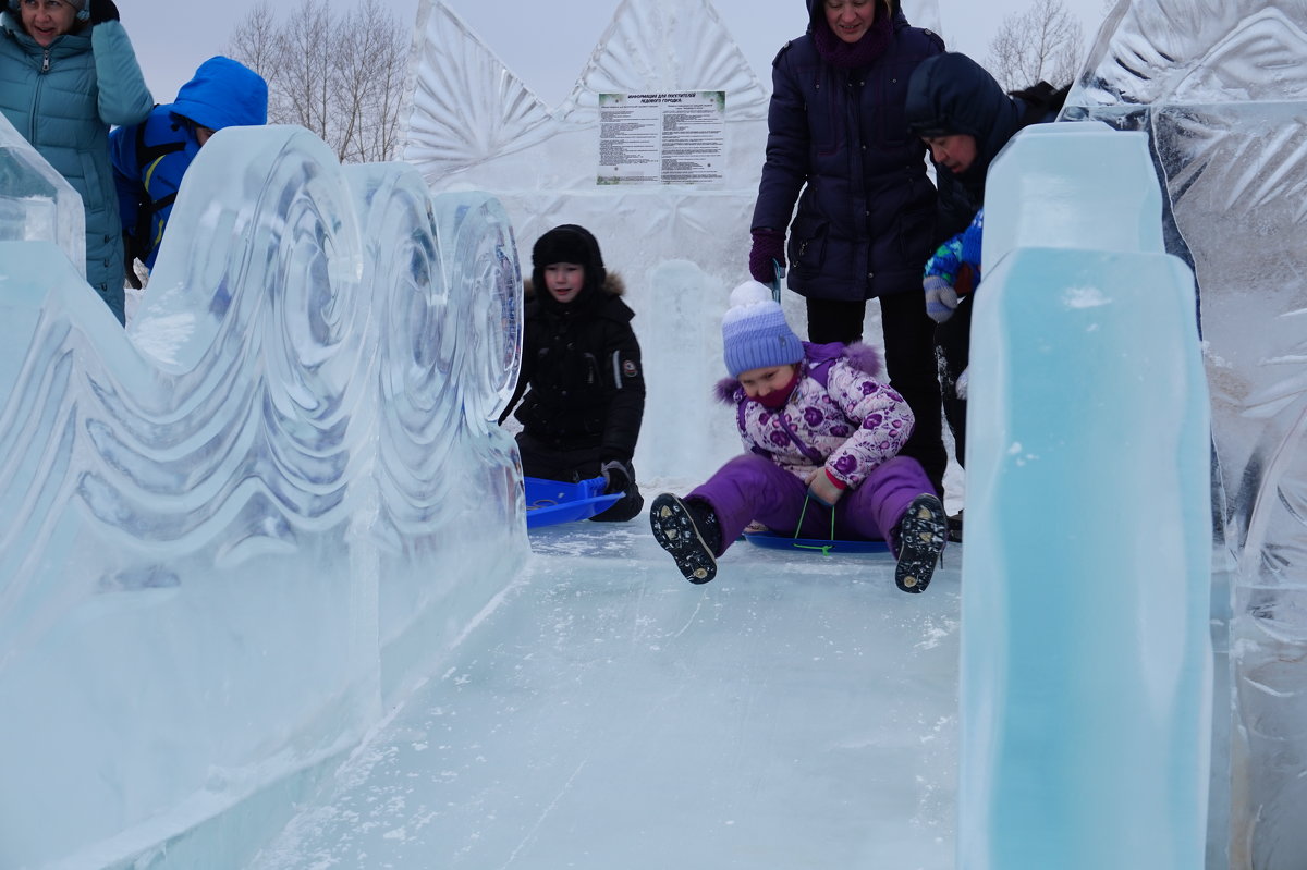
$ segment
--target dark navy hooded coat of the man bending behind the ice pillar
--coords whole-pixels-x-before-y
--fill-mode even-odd
[[[948,52],[923,63],[907,93],[907,121],[918,136],[966,133],[975,140],[976,155],[965,172],[936,167],[940,216],[936,239],[942,242],[971,222],[984,205],[989,165],[1017,131],[1057,118],[1069,86],[1047,82],[1009,95],[980,64]]]

